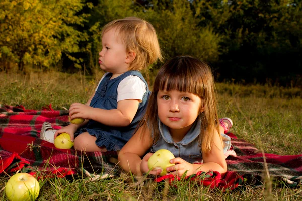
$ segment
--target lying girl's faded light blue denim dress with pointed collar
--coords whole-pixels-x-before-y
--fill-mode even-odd
[[[198,143],[198,136],[200,134],[201,120],[198,117],[191,129],[185,135],[185,137],[179,141],[174,142],[173,138],[169,132],[169,128],[164,125],[158,119],[160,138],[152,145],[150,151],[152,153],[159,149],[168,149],[171,151],[175,158],[180,157],[189,163],[200,163],[202,162],[202,152],[201,147]],[[225,134],[221,134],[224,143],[223,152],[225,153],[231,148],[231,138]]]

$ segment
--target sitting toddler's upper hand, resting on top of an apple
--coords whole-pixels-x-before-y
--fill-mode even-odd
[[[83,118],[91,119],[90,115],[93,114],[93,107],[81,103],[73,103],[69,108],[70,119]]]

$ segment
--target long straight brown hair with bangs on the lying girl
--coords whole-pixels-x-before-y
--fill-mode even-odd
[[[211,150],[213,133],[219,131],[217,98],[212,72],[209,66],[190,56],[177,56],[166,62],[158,71],[147,110],[139,126],[148,127],[153,133],[153,143],[160,137],[157,114],[157,94],[159,90],[190,92],[201,98],[201,129],[198,142],[202,152]],[[219,135],[220,136],[220,135]],[[221,136],[220,136],[221,139]]]

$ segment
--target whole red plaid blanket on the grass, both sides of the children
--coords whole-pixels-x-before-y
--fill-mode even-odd
[[[120,173],[120,169],[109,162],[110,157],[116,157],[115,152],[83,154],[72,149],[57,149],[52,143],[40,140],[41,127],[45,121],[50,122],[55,129],[66,126],[69,124],[68,111],[54,111],[51,105],[36,111],[26,110],[23,106],[0,104],[0,174],[13,174],[17,170],[60,177],[74,175],[79,171],[86,175],[89,174],[87,172],[101,172],[103,175]],[[175,179],[190,179],[198,180],[205,186],[232,189],[243,183],[262,185],[267,169],[271,178],[289,186],[297,186],[302,182],[302,155],[259,153],[254,145],[237,139],[232,133],[229,136],[237,157],[226,158],[228,171],[223,178],[218,172],[210,171],[185,178],[163,176],[155,180],[160,182],[169,179],[172,182]]]

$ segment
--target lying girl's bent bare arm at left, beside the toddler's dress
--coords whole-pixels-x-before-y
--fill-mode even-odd
[[[142,127],[139,128],[118,154],[119,166],[135,175],[142,175],[145,172],[141,167],[141,158],[152,146],[149,130],[146,129],[145,133],[142,133],[142,130]]]

